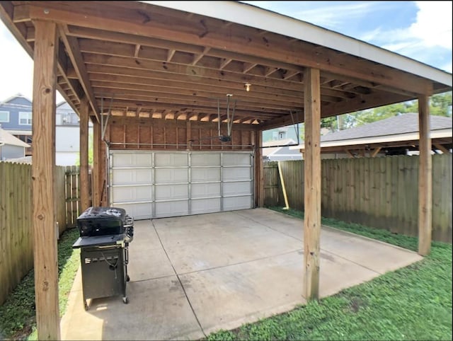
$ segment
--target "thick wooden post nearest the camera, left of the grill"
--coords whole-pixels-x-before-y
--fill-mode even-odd
[[[59,340],[55,229],[57,25],[35,21],[33,71],[33,243],[38,340]]]

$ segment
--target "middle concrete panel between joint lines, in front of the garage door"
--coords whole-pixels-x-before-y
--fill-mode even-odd
[[[212,221],[215,216],[219,218],[218,223]],[[167,219],[153,221],[178,274],[249,262],[302,248],[296,238],[234,212],[200,215],[195,222],[188,225],[175,221],[171,226]]]

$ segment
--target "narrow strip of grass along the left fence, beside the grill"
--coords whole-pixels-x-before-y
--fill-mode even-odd
[[[80,265],[80,250],[72,244],[79,238],[79,229],[68,229],[58,242],[59,311],[66,310],[69,291]],[[0,340],[36,340],[35,274],[33,270],[0,306]]]

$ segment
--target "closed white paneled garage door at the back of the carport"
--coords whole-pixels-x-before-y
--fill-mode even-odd
[[[253,154],[110,151],[109,202],[134,219],[253,207]]]

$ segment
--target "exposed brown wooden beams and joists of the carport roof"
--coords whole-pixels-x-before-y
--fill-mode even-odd
[[[171,112],[176,120],[217,120],[217,99],[225,110],[230,93],[237,124],[269,129],[303,122],[306,67],[321,70],[321,117],[451,89],[451,80],[440,83],[288,35],[144,2],[4,1],[0,14],[31,56],[33,20],[57,23],[59,91],[77,112],[86,96],[96,120],[101,100],[112,99],[113,115],[166,120]]]

